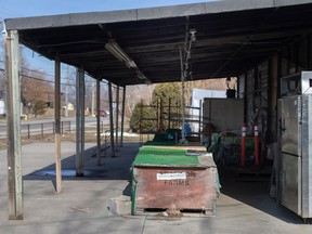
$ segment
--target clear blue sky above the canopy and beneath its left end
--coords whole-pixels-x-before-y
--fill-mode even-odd
[[[217,0],[0,0],[0,22],[4,18],[14,17],[140,9],[209,1]],[[2,54],[1,49],[0,54]],[[49,74],[53,73],[51,61],[44,60],[38,54],[32,54],[31,51],[25,51],[24,54],[26,54],[26,60],[32,68],[44,69]],[[3,66],[1,61],[3,60],[0,58],[0,68]]]

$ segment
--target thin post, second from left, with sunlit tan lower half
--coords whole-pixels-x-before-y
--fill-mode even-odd
[[[54,90],[54,122],[55,122],[55,174],[56,193],[62,192],[62,156],[61,156],[61,62],[55,57],[55,90]]]

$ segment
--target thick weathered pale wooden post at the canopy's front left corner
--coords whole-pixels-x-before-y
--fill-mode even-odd
[[[21,88],[18,32],[8,31],[5,42],[6,72],[6,136],[8,136],[8,192],[9,219],[22,220],[23,174],[21,146]]]

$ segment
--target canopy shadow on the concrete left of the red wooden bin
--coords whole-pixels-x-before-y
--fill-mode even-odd
[[[76,155],[68,156],[62,159],[62,180],[128,180],[123,194],[130,195],[131,166],[139,147],[139,143],[125,143],[118,147],[116,157],[110,157],[109,153],[103,156],[102,152],[100,166],[94,157],[96,147],[86,150],[83,177],[76,177]],[[55,164],[26,174],[23,180],[51,180],[55,188]]]

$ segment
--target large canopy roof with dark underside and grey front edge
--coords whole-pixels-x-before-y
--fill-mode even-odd
[[[237,76],[311,30],[312,0],[226,0],[5,20],[31,50],[119,86],[144,83],[106,49],[116,41],[153,82],[181,79],[180,48],[196,29],[193,80]]]

